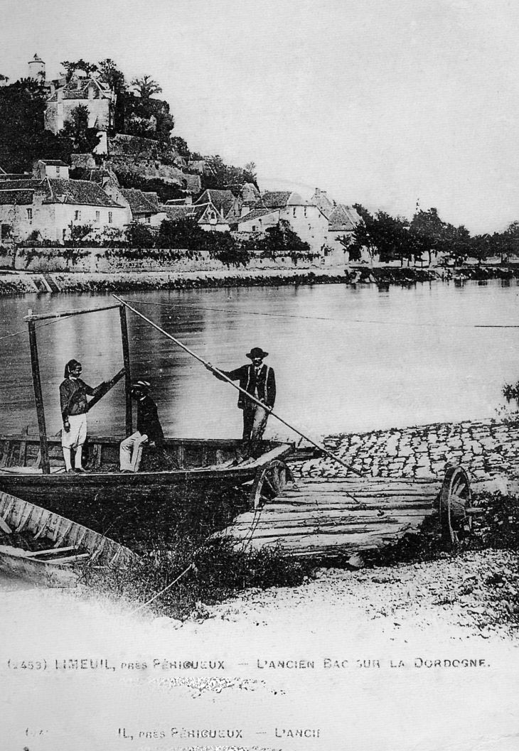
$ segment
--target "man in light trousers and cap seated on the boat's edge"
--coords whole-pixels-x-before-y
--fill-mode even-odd
[[[157,405],[149,396],[149,382],[137,381],[131,386],[131,396],[137,401],[137,430],[119,445],[121,472],[138,472],[143,444],[161,446],[164,433],[158,420]]]

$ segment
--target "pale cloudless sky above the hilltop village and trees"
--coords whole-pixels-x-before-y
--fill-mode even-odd
[[[0,0],[0,73],[35,53],[151,75],[192,151],[261,189],[327,190],[472,233],[519,219],[519,4]]]

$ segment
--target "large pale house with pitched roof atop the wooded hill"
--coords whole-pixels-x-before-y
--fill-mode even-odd
[[[115,101],[116,95],[97,77],[75,71],[71,80],[58,86],[47,99],[45,128],[59,133],[71,119],[72,110],[83,104],[89,111],[88,127],[107,131],[113,127]]]

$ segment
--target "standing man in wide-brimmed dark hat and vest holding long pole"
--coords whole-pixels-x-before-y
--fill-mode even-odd
[[[249,365],[242,365],[236,370],[221,370],[231,381],[238,381],[240,388],[243,388],[248,394],[252,394],[259,401],[264,403],[264,407],[259,406],[251,399],[247,399],[243,391],[240,391],[238,397],[238,409],[243,409],[243,441],[261,441],[267,419],[271,409],[276,401],[276,378],[273,368],[265,365],[263,360],[267,357],[268,352],[264,352],[261,347],[252,347],[246,357],[252,362]],[[216,378],[223,381],[219,372],[213,369],[210,364],[207,368],[216,375]]]

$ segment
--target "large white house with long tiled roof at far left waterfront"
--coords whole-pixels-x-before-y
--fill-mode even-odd
[[[71,225],[124,229],[128,210],[88,180],[44,179],[0,182],[0,224],[17,242],[37,237],[62,243]],[[38,242],[38,240],[35,240]]]

